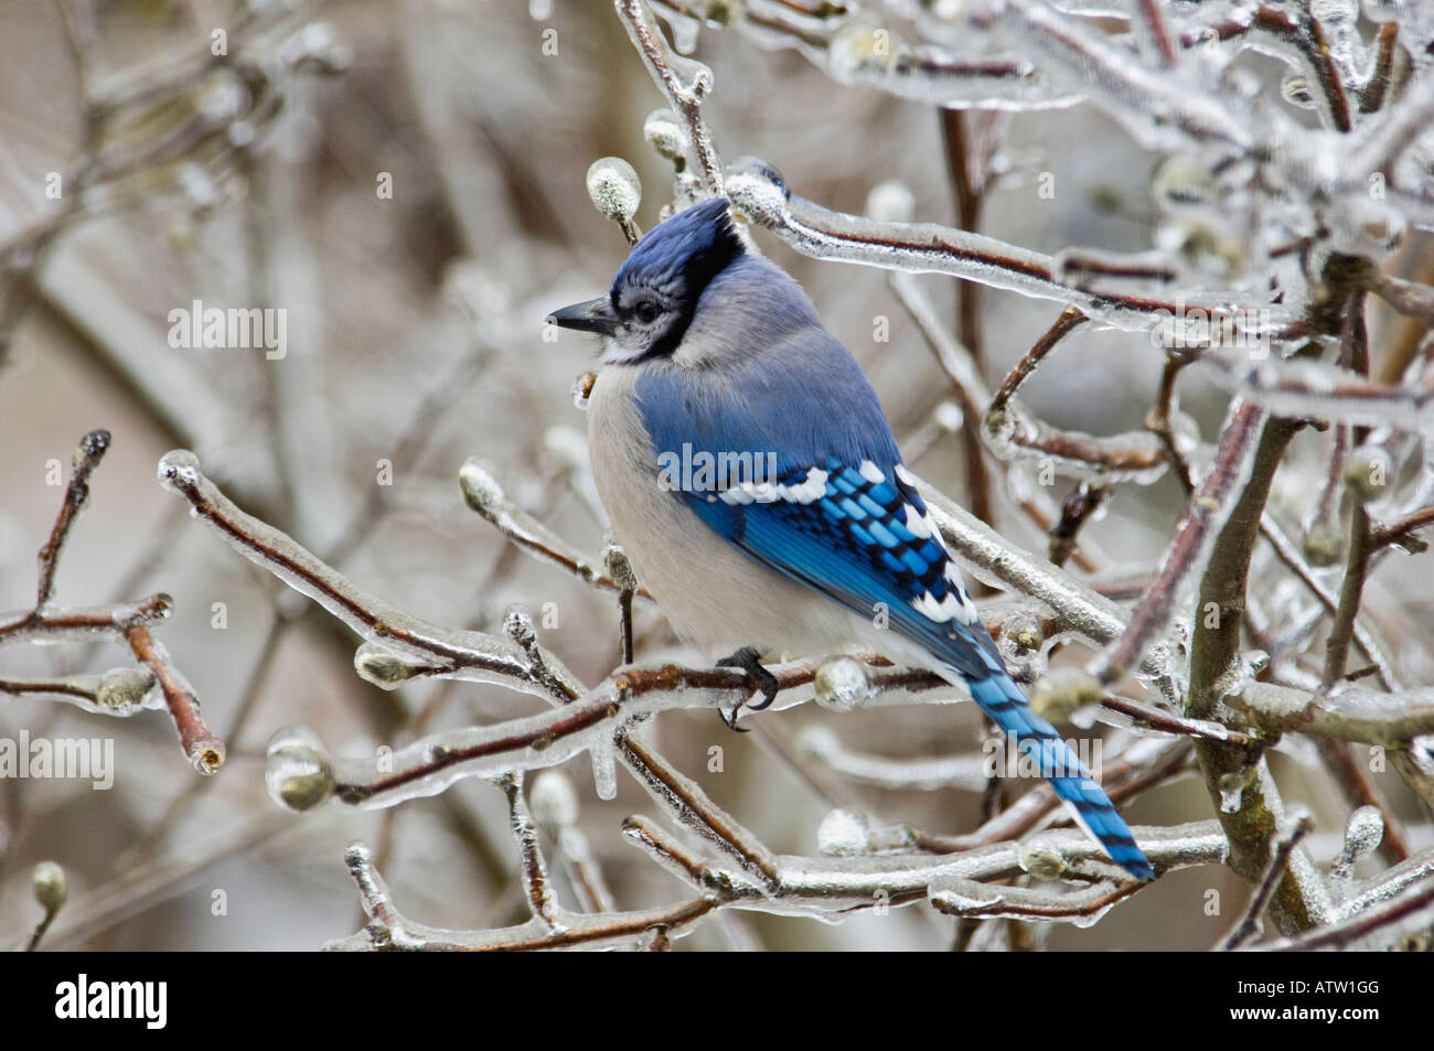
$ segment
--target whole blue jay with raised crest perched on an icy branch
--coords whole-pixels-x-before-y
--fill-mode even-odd
[[[965,683],[1106,852],[1154,876],[1007,672],[860,366],[746,251],[726,198],[654,227],[609,295],[549,321],[604,337],[589,452],[638,578],[684,641],[734,651],[718,664],[747,671],[753,707],[776,694],[769,652],[860,647]]]

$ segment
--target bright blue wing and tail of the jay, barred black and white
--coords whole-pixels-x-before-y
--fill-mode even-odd
[[[767,569],[862,617],[883,607],[893,631],[959,672],[981,708],[1050,774],[1055,793],[1107,853],[1150,879],[1154,870],[1116,807],[1007,672],[901,465],[875,393],[835,346],[855,377],[832,356],[825,368],[806,370],[797,399],[771,377],[743,383],[753,397],[739,401],[724,391],[698,393],[677,368],[645,374],[637,390],[658,456],[684,447],[714,460],[746,452],[753,456],[743,463],[774,469],[760,479],[717,472],[708,485],[680,489],[675,498]],[[860,391],[855,404],[853,390]],[[794,417],[792,404],[815,406],[816,413]],[[823,426],[819,413],[827,404],[842,406],[843,416]]]

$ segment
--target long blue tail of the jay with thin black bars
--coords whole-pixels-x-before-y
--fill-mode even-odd
[[[1055,727],[1031,710],[1030,701],[1010,675],[997,672],[988,678],[967,684],[981,710],[1008,734],[1015,734],[1017,747],[1031,756],[1038,769],[1058,771],[1061,776],[1047,777],[1055,794],[1074,806],[1086,829],[1100,840],[1106,853],[1140,880],[1154,879],[1154,869],[1136,846],[1130,826],[1116,812],[1116,806],[1096,784],[1080,757],[1055,733]]]

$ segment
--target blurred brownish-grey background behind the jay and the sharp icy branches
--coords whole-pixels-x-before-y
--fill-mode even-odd
[[[958,225],[934,106],[840,86],[800,54],[736,32],[703,32],[694,57],[714,75],[706,115],[727,161],[764,158],[796,192],[846,212],[901,181],[918,218]],[[369,685],[353,672],[358,639],[189,520],[156,485],[155,463],[192,449],[241,508],[426,619],[499,632],[508,604],[552,602],[558,627],[542,631],[543,644],[598,683],[618,661],[615,604],[513,552],[467,510],[457,469],[488,459],[518,503],[578,548],[601,546],[572,396],[594,346],[571,333],[545,341],[543,317],[604,293],[627,252],[588,199],[592,161],[634,165],[644,229],[671,201],[671,165],[642,138],[644,118],[664,105],[608,3],[0,0],[0,608],[33,601],[34,552],[63,492],[47,485],[47,463],[67,465],[82,434],[110,430],[57,601],[172,595],[156,637],[228,743],[219,774],[201,779],[163,713],[109,720],[0,698],[0,736],[103,736],[116,750],[108,791],[0,783],[6,942],[39,918],[30,872],[53,859],[70,900],[50,948],[311,949],[361,926],[343,866],[356,837],[374,845],[413,919],[472,929],[523,916],[503,799],[489,784],[463,781],[390,812],[291,814],[265,794],[264,748],[275,730],[303,724],[337,754],[369,754],[420,731],[532,714],[541,701],[472,684]],[[1096,109],[1011,115],[999,161],[985,232],[1045,252],[1152,247],[1159,158]],[[1055,176],[1054,198],[1037,192],[1043,172]],[[803,258],[763,231],[756,239],[859,358],[898,437],[919,444],[913,469],[965,499],[961,439],[931,430],[946,377],[886,274]],[[1417,271],[1424,248],[1411,238],[1401,265]],[[955,327],[958,282],[921,284]],[[287,353],[171,346],[169,313],[195,300],[285,308]],[[991,381],[1060,313],[991,290],[981,311]],[[878,318],[889,341],[873,337]],[[1375,346],[1397,336],[1397,321],[1371,320]],[[1141,426],[1162,367],[1147,337],[1087,325],[1057,360],[1022,390],[1037,414],[1101,434]],[[1182,407],[1209,437],[1225,397],[1192,374]],[[1321,456],[1301,439],[1292,462],[1309,473],[1292,469],[1292,499],[1308,500]],[[1090,526],[1090,549],[1119,552],[1106,566],[1149,569],[1182,503],[1170,477],[1121,486]],[[1012,542],[1044,552],[1043,531],[1005,489],[995,516]],[[1427,575],[1427,558],[1407,572]],[[1427,588],[1398,598],[1427,629]],[[655,609],[640,609],[637,628],[640,661],[693,660]],[[128,662],[109,644],[0,657],[14,675]],[[1405,657],[1428,660],[1423,647]],[[969,705],[849,715],[804,705],[763,721],[789,746],[817,727],[891,757],[971,753],[979,740]],[[730,733],[714,713],[673,713],[657,727],[664,754],[771,849],[816,853],[830,800],[757,737]],[[724,770],[703,773],[713,744]],[[1316,809],[1322,834],[1338,833],[1336,793],[1296,760],[1273,760],[1286,797]],[[617,800],[601,802],[585,760],[564,771],[618,905],[683,899],[618,833],[628,813],[654,813],[641,789],[622,776]],[[1412,814],[1412,796],[1397,780],[1387,787]],[[876,823],[979,823],[978,791],[843,791]],[[1124,810],[1131,823],[1212,816],[1195,779]],[[1222,916],[1200,908],[1209,889],[1226,898]],[[1225,869],[1177,872],[1093,928],[1040,938],[1050,948],[1206,948],[1243,895]],[[724,912],[674,945],[942,949],[952,931],[925,905],[839,926]]]

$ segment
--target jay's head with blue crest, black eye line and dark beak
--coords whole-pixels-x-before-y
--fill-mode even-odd
[[[612,364],[671,354],[703,291],[744,251],[727,198],[710,198],[650,229],[608,295],[555,310],[549,320],[605,336],[604,360]]]

